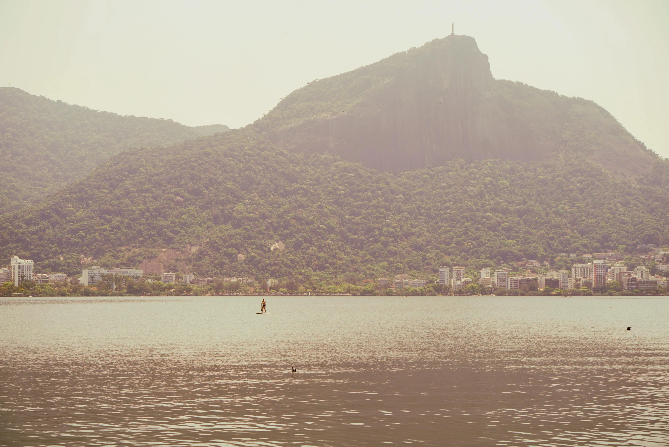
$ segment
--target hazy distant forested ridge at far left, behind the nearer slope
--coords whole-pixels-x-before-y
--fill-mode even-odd
[[[82,179],[140,145],[165,146],[229,130],[173,120],[120,116],[0,88],[0,214]]]

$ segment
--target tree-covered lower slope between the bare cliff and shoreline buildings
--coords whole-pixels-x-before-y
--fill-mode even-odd
[[[173,248],[182,270],[207,276],[375,278],[667,243],[668,214],[664,189],[581,155],[456,159],[395,175],[284,151],[248,128],[116,155],[5,215],[0,256],[72,274],[80,256],[138,264]]]

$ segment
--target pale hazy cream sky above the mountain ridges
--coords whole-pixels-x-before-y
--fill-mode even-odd
[[[244,126],[316,78],[450,34],[495,78],[594,100],[669,157],[669,1],[4,1],[0,86]]]

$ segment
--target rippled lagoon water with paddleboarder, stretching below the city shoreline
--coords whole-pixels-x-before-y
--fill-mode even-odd
[[[1,300],[0,446],[669,446],[666,298],[260,299]]]

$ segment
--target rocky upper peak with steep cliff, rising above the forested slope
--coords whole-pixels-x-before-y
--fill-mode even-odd
[[[337,153],[382,171],[581,151],[630,177],[654,160],[593,102],[494,80],[476,41],[459,35],[312,82],[255,125],[287,149]]]

